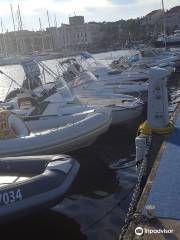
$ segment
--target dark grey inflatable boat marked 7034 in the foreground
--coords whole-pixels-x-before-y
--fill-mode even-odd
[[[54,206],[78,169],[66,155],[0,158],[0,223]]]

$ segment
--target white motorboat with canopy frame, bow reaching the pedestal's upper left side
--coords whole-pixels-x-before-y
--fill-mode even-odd
[[[75,66],[75,67],[74,67]],[[76,66],[79,66],[78,68]],[[127,94],[133,96],[140,96],[147,92],[148,83],[141,81],[121,81],[119,84],[114,79],[113,81],[97,80],[95,75],[87,69],[84,69],[76,62],[76,59],[66,60],[66,67],[63,64],[62,77],[67,82],[74,94],[83,96],[103,96],[115,97],[117,94]],[[119,95],[121,97],[121,95]]]

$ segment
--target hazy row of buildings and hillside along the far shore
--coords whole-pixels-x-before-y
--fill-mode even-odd
[[[131,47],[135,42],[151,43],[163,33],[164,13],[154,10],[144,17],[116,22],[89,22],[84,16],[69,17],[69,24],[48,27],[41,31],[18,31],[0,34],[0,55],[21,55],[36,52],[74,53],[115,50]],[[180,6],[165,13],[168,34],[180,29]],[[41,24],[40,24],[41,25]]]

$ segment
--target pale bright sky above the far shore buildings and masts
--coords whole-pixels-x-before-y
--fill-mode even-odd
[[[161,8],[161,0],[0,0],[0,19],[3,29],[0,32],[13,30],[10,4],[16,16],[20,6],[23,28],[39,30],[39,18],[42,27],[48,27],[46,11],[50,16],[50,24],[68,23],[68,17],[85,16],[85,21],[117,21],[146,15],[152,10]],[[164,0],[165,9],[180,5],[180,0]],[[17,19],[17,17],[16,17]],[[16,21],[17,26],[17,21]]]

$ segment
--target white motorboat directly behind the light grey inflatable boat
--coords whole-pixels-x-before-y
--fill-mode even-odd
[[[22,101],[21,104],[23,104]],[[106,109],[88,106],[76,98],[65,100],[59,93],[55,93],[35,105],[22,107],[22,105],[17,104],[17,101],[14,101],[3,104],[3,107],[23,119],[32,132],[74,124],[83,120],[87,114],[96,112],[96,110],[109,114]]]

